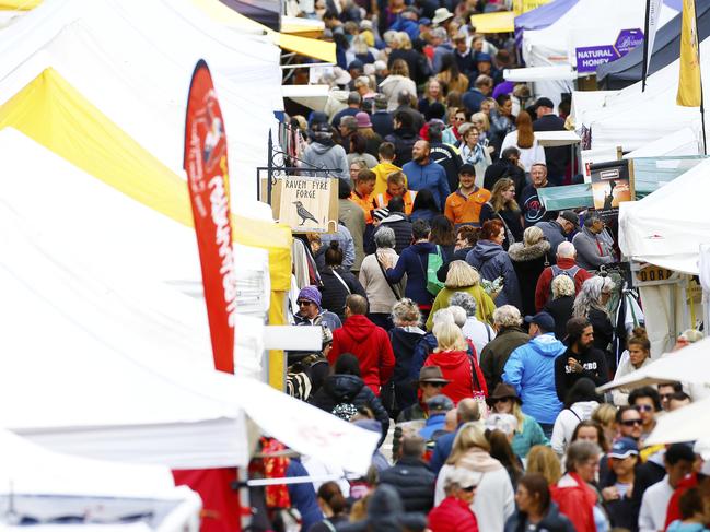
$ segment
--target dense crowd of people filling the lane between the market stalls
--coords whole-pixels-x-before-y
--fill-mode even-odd
[[[303,172],[338,177],[339,224],[295,235],[293,322],[323,344],[288,353],[288,390],[380,444],[364,478],[288,487],[302,530],[708,530],[706,449],[645,444],[692,390],[597,391],[651,343],[640,309],[616,319],[605,220],[540,200],[575,180],[536,138],[569,101],[503,80],[514,44],[469,22],[498,3],[315,2],[322,81],[349,92],[291,119]]]

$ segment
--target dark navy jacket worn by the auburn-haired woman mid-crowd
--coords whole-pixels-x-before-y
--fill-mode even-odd
[[[491,240],[478,240],[466,256],[466,262],[473,265],[481,277],[496,281],[503,277],[503,289],[496,298],[496,306],[513,305],[522,308],[520,285],[513,263],[502,246]]]

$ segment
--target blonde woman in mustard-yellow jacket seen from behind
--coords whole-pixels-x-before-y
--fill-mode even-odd
[[[476,299],[476,318],[489,324],[493,323],[496,304],[480,285],[480,275],[466,261],[454,260],[449,263],[449,272],[446,273],[444,287],[437,294],[432,304],[431,312],[427,319],[428,331],[431,331],[432,316],[434,312],[441,308],[449,307],[449,300],[456,292],[470,294]]]

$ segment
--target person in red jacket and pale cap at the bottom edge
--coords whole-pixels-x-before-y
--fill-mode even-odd
[[[478,521],[470,510],[480,474],[456,468],[446,475],[446,498],[429,512],[431,532],[478,532]]]

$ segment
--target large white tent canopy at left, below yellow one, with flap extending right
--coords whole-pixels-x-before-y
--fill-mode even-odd
[[[0,132],[0,401],[13,405],[0,426],[57,451],[199,469],[247,462],[246,413],[299,452],[366,470],[376,435],[213,371],[199,302],[128,264],[171,258],[148,246],[136,256],[133,238],[167,243],[170,227],[187,229],[11,129]],[[148,236],[115,227],[121,205],[135,208],[123,215],[136,215]],[[114,228],[94,236],[94,224]]]

